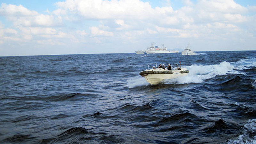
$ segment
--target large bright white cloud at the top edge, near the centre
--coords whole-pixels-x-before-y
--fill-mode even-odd
[[[87,19],[147,19],[164,11],[172,11],[166,7],[156,11],[148,2],[140,0],[66,0],[56,3],[60,8],[81,15]]]

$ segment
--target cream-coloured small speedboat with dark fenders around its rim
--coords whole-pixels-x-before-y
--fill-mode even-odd
[[[145,77],[149,84],[159,84],[165,79],[173,79],[181,76],[187,76],[189,73],[187,68],[166,70],[163,68],[148,69],[140,72],[140,75]]]

